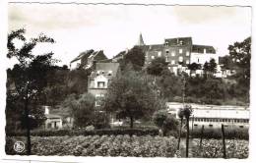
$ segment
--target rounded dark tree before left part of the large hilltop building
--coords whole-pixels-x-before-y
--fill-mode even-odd
[[[167,69],[165,59],[163,57],[158,57],[147,67],[147,72],[150,75],[160,76],[161,72],[165,69]]]

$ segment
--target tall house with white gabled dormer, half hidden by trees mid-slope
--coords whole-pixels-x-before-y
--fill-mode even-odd
[[[96,106],[100,106],[100,99],[104,97],[112,78],[119,72],[119,63],[96,63],[88,81],[88,91],[96,97]]]

